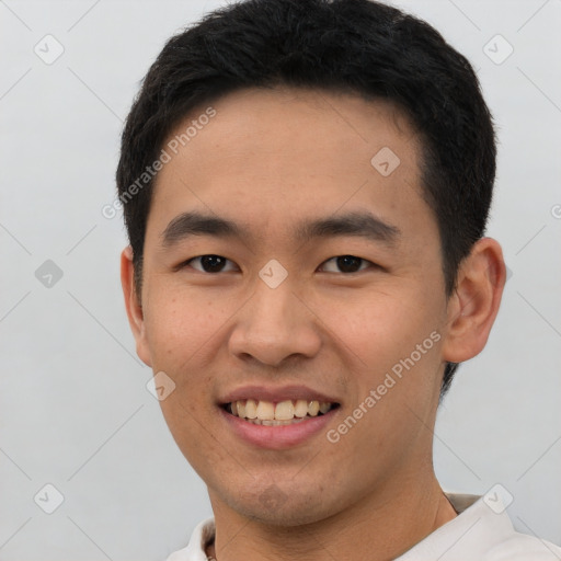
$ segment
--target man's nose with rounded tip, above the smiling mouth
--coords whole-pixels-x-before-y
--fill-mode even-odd
[[[277,367],[291,356],[314,356],[321,341],[317,317],[289,282],[271,288],[259,280],[230,332],[229,351],[243,360]]]

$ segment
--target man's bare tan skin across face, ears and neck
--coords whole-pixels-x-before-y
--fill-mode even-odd
[[[486,343],[505,282],[501,248],[476,243],[446,296],[419,140],[387,102],[283,88],[213,106],[216,117],[158,175],[140,295],[130,248],[122,255],[138,355],[174,380],[162,411],[208,486],[217,531],[207,554],[393,559],[456,516],[432,462],[439,388],[447,360],[469,359]],[[382,147],[401,161],[388,176],[370,163]],[[393,245],[291,237],[301,220],[365,209],[399,228]],[[187,210],[249,233],[163,248],[168,224]],[[225,271],[204,272],[197,261],[176,267],[207,254],[227,257]],[[340,255],[366,261],[345,273]],[[288,272],[275,289],[259,277],[271,259]],[[322,431],[264,450],[217,414],[219,398],[247,383],[305,383],[341,403],[328,427],[336,428],[434,331],[439,341],[335,444]],[[271,490],[273,507],[263,500]]]

